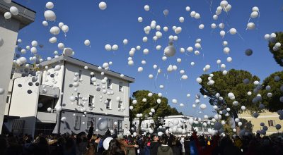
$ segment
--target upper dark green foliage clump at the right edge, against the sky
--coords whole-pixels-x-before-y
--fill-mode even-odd
[[[268,44],[270,48],[270,52],[273,54],[273,58],[279,64],[279,66],[283,67],[283,48],[280,46],[279,48],[275,47],[275,44],[279,42],[283,45],[283,32],[276,32],[276,37],[271,38]]]

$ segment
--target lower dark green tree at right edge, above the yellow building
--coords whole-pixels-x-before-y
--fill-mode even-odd
[[[275,80],[275,77],[279,77],[279,81]],[[268,87],[270,86],[270,87]],[[270,90],[269,90],[270,89]],[[266,77],[262,83],[262,99],[265,108],[271,112],[277,112],[283,109],[283,103],[280,101],[280,97],[283,97],[283,72],[276,72]],[[272,97],[267,97],[267,94],[271,93]]]

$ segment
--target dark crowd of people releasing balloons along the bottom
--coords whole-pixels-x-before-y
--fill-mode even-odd
[[[103,141],[112,137],[109,147]],[[39,135],[33,140],[28,135],[0,136],[1,155],[260,155],[283,154],[283,137],[260,137],[245,135],[219,137],[219,135],[192,135],[176,137],[171,134],[158,135],[117,135],[110,130],[105,135],[93,134],[93,124],[86,132],[57,136]]]

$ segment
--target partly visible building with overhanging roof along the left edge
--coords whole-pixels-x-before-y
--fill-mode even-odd
[[[12,16],[10,19],[6,20],[4,18],[4,13],[9,12],[11,6],[16,6],[18,8],[18,15]],[[13,56],[15,54],[16,42],[18,38],[18,31],[23,27],[33,23],[35,20],[35,11],[25,8],[15,2],[11,4],[6,4],[4,1],[0,1],[0,88],[4,92],[0,93],[0,133],[2,130],[3,123],[8,123],[6,119],[4,120],[4,111],[6,106],[6,97],[8,94],[9,80],[11,75],[11,69],[13,65]],[[8,118],[6,116],[6,118]]]

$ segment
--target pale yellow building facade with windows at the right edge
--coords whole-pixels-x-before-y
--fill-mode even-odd
[[[239,115],[239,118],[244,118],[248,121],[248,123],[252,124],[253,133],[256,133],[258,130],[262,130],[260,123],[265,123],[265,126],[267,126],[268,130],[266,131],[266,135],[283,132],[283,128],[281,128],[280,130],[277,130],[275,128],[275,125],[277,124],[283,125],[283,120],[279,119],[278,113],[265,111],[260,113],[258,118],[251,116],[249,113],[242,113]]]

